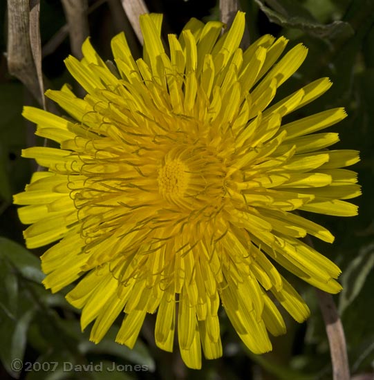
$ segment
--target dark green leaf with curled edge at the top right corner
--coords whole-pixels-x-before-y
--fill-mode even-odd
[[[301,29],[309,35],[321,39],[346,38],[354,34],[354,30],[350,24],[344,21],[334,21],[327,25],[319,23],[296,0],[255,1],[265,15],[268,16],[268,19],[278,25]]]

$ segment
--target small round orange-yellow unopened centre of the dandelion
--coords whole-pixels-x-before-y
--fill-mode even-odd
[[[182,161],[167,161],[158,171],[158,189],[162,195],[183,197],[188,177],[187,166]]]

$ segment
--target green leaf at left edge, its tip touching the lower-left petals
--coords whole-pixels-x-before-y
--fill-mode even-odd
[[[41,283],[44,274],[41,272],[40,260],[26,248],[4,237],[0,237],[0,257],[6,258],[28,280]]]

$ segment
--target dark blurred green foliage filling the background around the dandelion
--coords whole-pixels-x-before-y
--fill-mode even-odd
[[[166,32],[180,32],[190,17],[207,21],[217,19],[219,15],[214,0],[146,2],[151,11],[165,13]],[[115,33],[126,27],[118,23],[118,17],[113,17],[113,9],[105,1],[93,0],[90,5],[92,12],[88,17],[93,45],[106,59],[111,59],[109,41]],[[374,185],[374,1],[242,0],[241,7],[247,12],[251,41],[270,32],[275,36],[286,35],[290,39],[290,46],[302,41],[309,49],[305,63],[280,88],[278,98],[318,77],[330,77],[334,83],[323,97],[289,118],[303,117],[335,106],[345,106],[348,112],[349,117],[332,129],[339,132],[341,137],[336,149],[362,151],[362,161],[354,167],[363,187],[363,195],[353,200],[359,205],[359,216],[348,219],[312,217],[326,225],[336,237],[333,245],[317,241],[315,244],[321,253],[335,260],[343,269],[341,282],[344,290],[335,297],[335,301],[342,314],[351,371],[353,374],[373,372],[374,201],[371,189]],[[0,20],[0,48],[4,53],[4,0],[0,1]],[[59,0],[41,1],[43,46],[65,23]],[[125,32],[132,35],[131,30]],[[131,46],[140,51],[136,41],[132,41]],[[63,65],[63,59],[68,54],[66,36],[44,57],[44,74],[54,88],[59,88],[64,82],[73,84],[73,79],[67,75]],[[34,126],[22,120],[21,108],[26,104],[35,105],[31,95],[7,73],[6,57],[1,55],[1,379],[331,378],[328,341],[315,292],[291,277],[290,281],[296,283],[297,289],[301,290],[310,305],[312,316],[307,323],[297,325],[285,314],[288,334],[273,339],[274,350],[269,354],[256,356],[247,352],[224,314],[221,317],[223,358],[204,361],[203,370],[198,372],[185,368],[178,352],[170,354],[156,348],[152,335],[154,316],[149,316],[133,350],[114,342],[115,327],[100,344],[89,342],[88,332],[82,333],[80,330],[79,312],[66,303],[64,294],[50,294],[41,285],[44,275],[37,256],[43,250],[28,251],[24,248],[21,234],[24,227],[18,221],[16,208],[11,205],[12,193],[24,188],[35,169],[28,160],[20,158],[21,149],[42,144],[33,135]],[[24,368],[19,372],[12,370],[12,361],[16,358],[24,361]],[[53,368],[55,362],[58,365]],[[45,367],[40,368],[37,363],[44,363]],[[66,364],[64,368],[64,363],[71,364]],[[71,368],[73,365],[77,365],[75,370]],[[125,365],[132,365],[133,370],[126,370]],[[142,365],[145,367],[142,368]]]

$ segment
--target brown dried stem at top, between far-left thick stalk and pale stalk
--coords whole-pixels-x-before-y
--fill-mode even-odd
[[[71,52],[82,58],[82,44],[89,35],[88,0],[62,0],[62,6],[68,22]]]

